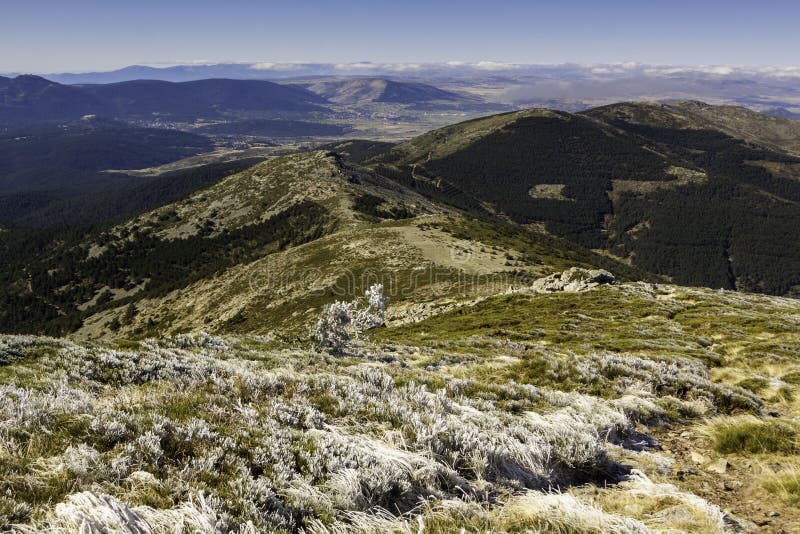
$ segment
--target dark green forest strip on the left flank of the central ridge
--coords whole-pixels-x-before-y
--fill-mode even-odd
[[[83,317],[112,305],[110,295],[87,302],[103,287],[144,289],[113,305],[135,303],[252,261],[271,252],[317,239],[330,228],[322,206],[304,202],[270,219],[224,229],[214,234],[213,223],[192,237],[163,240],[147,233],[106,243],[97,257],[87,257],[76,246],[58,246],[47,253],[48,241],[39,236],[38,254],[28,257],[4,254],[0,269],[0,331],[60,335],[80,327]],[[34,235],[29,237],[35,238]],[[102,238],[97,235],[102,243]],[[9,243],[6,242],[6,245]],[[12,245],[13,246],[13,245]],[[28,244],[28,251],[36,245]]]

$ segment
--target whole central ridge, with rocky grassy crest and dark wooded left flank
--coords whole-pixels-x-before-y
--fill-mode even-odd
[[[565,241],[472,219],[324,151],[270,160],[42,250],[7,256],[4,330],[292,331],[376,279],[398,305],[441,306],[573,265],[647,277]]]

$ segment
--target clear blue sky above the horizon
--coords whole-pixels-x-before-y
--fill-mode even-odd
[[[796,65],[798,0],[0,0],[0,72],[192,61]]]

